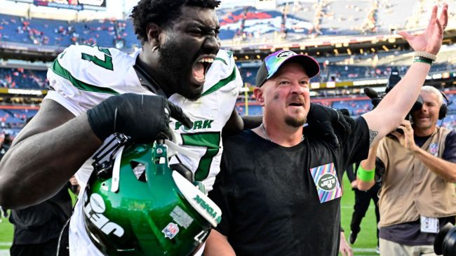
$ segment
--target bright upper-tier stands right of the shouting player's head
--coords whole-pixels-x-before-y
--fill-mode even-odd
[[[278,3],[273,10],[258,10],[253,6],[220,9],[221,39],[233,39],[235,43],[240,40],[278,42],[284,38],[296,41],[315,36],[390,34],[400,29],[422,29],[425,19],[411,23],[406,17],[429,15],[429,4],[435,1],[295,0]],[[414,9],[420,11],[412,13]],[[454,18],[455,13],[450,11],[449,19]]]

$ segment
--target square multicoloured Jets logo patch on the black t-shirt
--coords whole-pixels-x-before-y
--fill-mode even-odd
[[[311,168],[310,173],[314,178],[320,203],[325,203],[342,196],[342,189],[339,180],[337,180],[334,163],[327,163],[323,166]]]

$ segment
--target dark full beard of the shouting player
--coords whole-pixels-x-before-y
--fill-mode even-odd
[[[185,56],[186,53],[180,53],[176,51],[177,49],[179,48],[175,41],[167,41],[159,49],[160,71],[166,74],[168,79],[168,83],[163,86],[166,86],[168,91],[179,93],[188,100],[198,100],[203,91],[203,86],[200,86],[197,90],[192,90],[188,74],[192,72],[193,63],[188,63],[187,66],[189,65],[190,67],[182,69],[182,65],[186,66],[185,63],[182,63],[182,56]],[[188,61],[191,62],[191,60]]]

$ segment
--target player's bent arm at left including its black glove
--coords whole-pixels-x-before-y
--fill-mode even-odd
[[[191,127],[180,107],[156,95],[112,96],[76,118],[53,100],[44,100],[0,161],[0,205],[22,208],[46,200],[109,135],[123,133],[149,143],[168,131],[170,116]]]

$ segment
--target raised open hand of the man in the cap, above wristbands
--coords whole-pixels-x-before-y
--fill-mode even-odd
[[[437,6],[432,8],[431,19],[422,34],[415,36],[408,32],[398,32],[415,51],[423,51],[437,55],[443,39],[443,30],[448,24],[448,4],[444,4],[440,18],[437,18]]]

